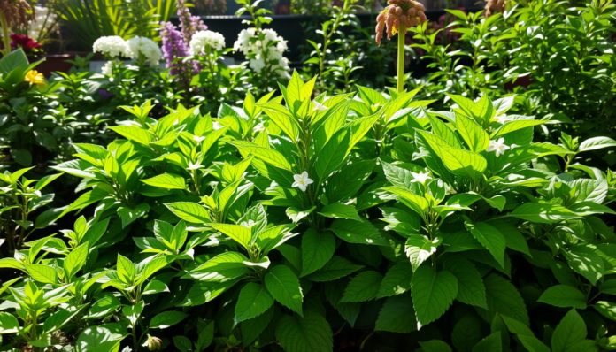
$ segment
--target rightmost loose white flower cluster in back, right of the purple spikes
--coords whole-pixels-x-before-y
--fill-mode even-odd
[[[266,65],[271,65],[273,73],[281,77],[289,75],[289,60],[283,56],[287,50],[287,41],[273,29],[262,29],[263,38],[259,38],[256,28],[243,29],[233,46],[235,51],[242,51],[249,59],[249,66],[256,73],[261,73]]]

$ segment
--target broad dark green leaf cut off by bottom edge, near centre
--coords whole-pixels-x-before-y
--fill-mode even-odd
[[[283,316],[276,325],[276,340],[288,352],[334,350],[334,337],[327,319],[312,310],[306,310],[304,317]]]

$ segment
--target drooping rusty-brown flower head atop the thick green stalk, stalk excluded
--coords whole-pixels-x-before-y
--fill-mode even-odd
[[[425,22],[426,8],[415,0],[389,0],[386,8],[376,18],[376,42],[381,44],[383,30],[387,39],[394,34]]]

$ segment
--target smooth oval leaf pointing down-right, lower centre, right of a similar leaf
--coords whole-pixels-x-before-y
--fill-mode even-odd
[[[296,274],[289,269],[289,266],[274,266],[267,271],[265,282],[267,291],[274,300],[297,314],[302,314],[304,295]]]

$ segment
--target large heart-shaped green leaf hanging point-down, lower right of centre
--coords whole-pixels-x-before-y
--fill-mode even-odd
[[[458,295],[458,279],[447,270],[436,272],[428,264],[413,273],[411,282],[418,327],[441,318]]]

